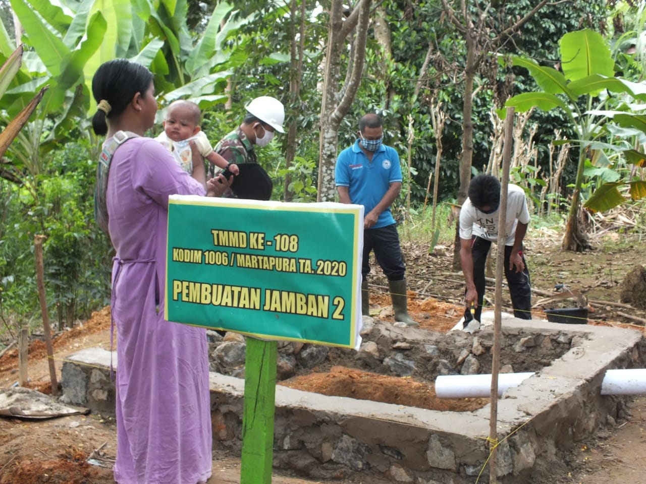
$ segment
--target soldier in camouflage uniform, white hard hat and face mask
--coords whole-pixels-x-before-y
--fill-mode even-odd
[[[247,116],[238,126],[222,138],[214,151],[229,163],[258,163],[255,146],[267,146],[274,132],[284,133],[285,108],[278,99],[270,96],[256,97],[246,106]],[[209,167],[209,175],[214,174],[214,165]]]

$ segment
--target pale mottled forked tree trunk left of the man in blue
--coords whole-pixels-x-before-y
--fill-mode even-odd
[[[360,0],[345,21],[342,21],[342,1],[332,0],[330,6],[328,50],[324,66],[320,114],[317,201],[333,201],[337,194],[334,166],[337,162],[339,126],[357,94],[363,74],[370,3],[371,0]],[[346,83],[338,90],[341,50],[345,48],[345,39],[355,29],[355,26],[357,32],[351,71],[346,78]]]

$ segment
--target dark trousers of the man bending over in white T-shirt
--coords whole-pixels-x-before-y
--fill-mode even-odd
[[[474,237],[471,246],[471,253],[474,259],[474,283],[475,290],[478,292],[478,307],[472,317],[470,308],[464,310],[464,321],[470,321],[475,318],[480,321],[480,314],[485,298],[485,263],[486,255],[491,248],[491,241]],[[509,286],[509,294],[512,296],[512,307],[514,307],[514,316],[520,319],[532,319],[532,288],[529,280],[529,270],[525,263],[523,272],[515,272],[515,269],[509,269],[509,257],[512,255],[512,247],[505,245],[505,278]]]

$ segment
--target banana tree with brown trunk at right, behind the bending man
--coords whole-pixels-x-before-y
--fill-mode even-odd
[[[587,234],[581,228],[581,187],[585,162],[593,156],[594,143],[607,134],[604,126],[610,117],[602,110],[610,98],[605,92],[646,99],[645,86],[614,77],[614,61],[610,49],[600,34],[585,29],[563,35],[560,41],[562,72],[556,68],[538,65],[532,59],[512,56],[512,64],[526,68],[541,88],[510,98],[505,106],[514,106],[525,112],[532,107],[542,110],[560,109],[570,120],[577,139],[568,140],[579,145],[572,203],[568,213],[563,248],[581,251],[589,247]],[[504,111],[500,112],[504,116]]]

